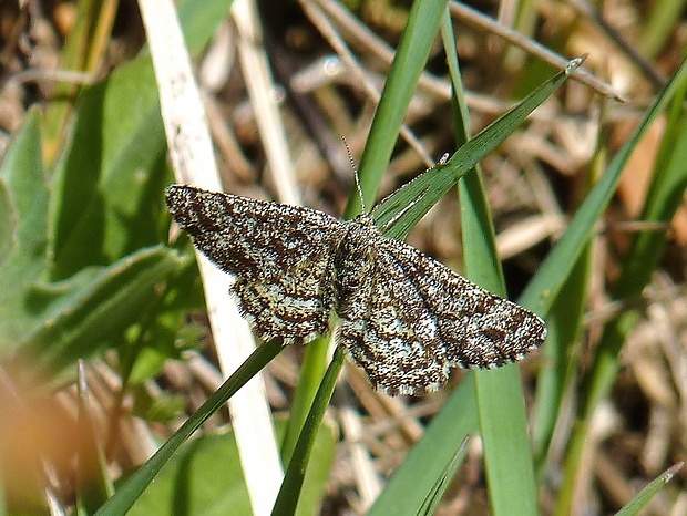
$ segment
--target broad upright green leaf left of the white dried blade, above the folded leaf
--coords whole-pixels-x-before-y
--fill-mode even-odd
[[[53,278],[107,265],[161,240],[165,140],[147,59],[84,92],[55,171]]]

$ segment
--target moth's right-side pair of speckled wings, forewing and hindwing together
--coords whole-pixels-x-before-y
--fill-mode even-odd
[[[340,283],[356,287],[339,288],[348,297],[337,303],[339,338],[376,389],[421,395],[440,389],[451,367],[496,368],[542,343],[545,326],[532,312],[359,224],[341,250],[368,270],[337,268],[348,275]]]

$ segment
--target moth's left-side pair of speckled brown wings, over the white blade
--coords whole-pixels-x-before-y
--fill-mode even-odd
[[[191,186],[170,186],[166,200],[195,247],[237,277],[232,293],[263,339],[307,342],[327,330],[346,234],[337,218]]]

